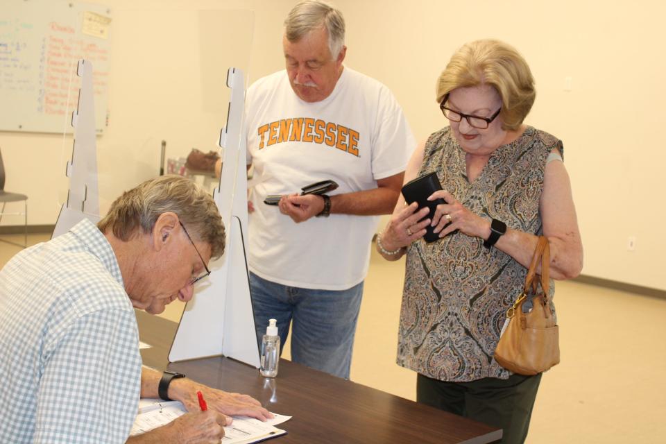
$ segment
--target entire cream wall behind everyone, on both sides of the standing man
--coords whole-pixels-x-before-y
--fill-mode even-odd
[[[101,194],[108,200],[154,174],[162,139],[169,155],[186,155],[193,146],[214,149],[223,112],[211,108],[210,91],[219,85],[202,71],[231,62],[248,67],[255,80],[280,69],[282,19],[294,2],[99,3],[110,6],[114,18],[110,126],[98,145]],[[393,90],[418,139],[445,125],[434,102],[434,82],[457,47],[481,37],[516,46],[538,87],[527,123],[564,141],[585,246],[583,273],[666,289],[658,272],[666,246],[660,180],[666,146],[658,130],[666,121],[665,4],[339,0],[337,5],[348,23],[346,64]],[[232,10],[220,26],[198,13],[220,8]],[[254,11],[251,35],[244,10]],[[240,35],[228,42],[235,51],[210,45],[229,33]],[[214,50],[225,58],[211,62],[207,54]],[[570,91],[565,91],[567,77]],[[0,133],[0,146],[10,176],[7,188],[31,196],[30,223],[53,223],[66,188],[62,172],[71,142],[63,149],[62,137]],[[631,236],[633,251],[627,248]]]

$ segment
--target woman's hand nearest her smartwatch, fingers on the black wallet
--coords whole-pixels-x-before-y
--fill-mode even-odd
[[[435,227],[434,232],[439,233],[439,237],[445,237],[450,232],[459,230],[468,236],[488,239],[488,236],[490,236],[490,223],[488,221],[468,210],[448,191],[435,191],[429,196],[428,200],[438,198],[447,202],[446,204],[437,205],[437,210],[430,224]]]

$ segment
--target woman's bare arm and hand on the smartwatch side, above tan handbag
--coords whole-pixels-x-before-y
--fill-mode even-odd
[[[559,153],[557,150],[553,152]],[[449,204],[438,205],[433,217],[433,225],[439,225],[436,232],[441,230],[441,236],[445,236],[453,230],[461,230],[470,236],[488,239],[490,221],[470,212],[447,191],[437,191],[431,196],[438,197],[445,198]],[[563,162],[553,160],[546,165],[539,207],[543,234],[548,238],[550,246],[550,276],[559,280],[575,278],[583,268],[583,244],[571,194],[571,182]],[[450,214],[452,220],[447,228],[443,228],[445,214]],[[499,237],[492,248],[499,248],[528,268],[537,242],[538,237],[534,234],[507,228],[506,234]],[[537,273],[540,273],[540,268],[537,268]]]

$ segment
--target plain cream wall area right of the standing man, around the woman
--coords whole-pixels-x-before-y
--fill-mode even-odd
[[[666,247],[666,142],[658,131],[666,120],[663,2],[339,4],[348,22],[348,65],[391,87],[420,139],[445,125],[434,85],[457,47],[495,37],[518,48],[538,88],[527,123],[564,142],[583,273],[666,289],[659,266]],[[634,251],[627,250],[630,236]]]

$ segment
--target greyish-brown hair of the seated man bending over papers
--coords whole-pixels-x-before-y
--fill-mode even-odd
[[[210,194],[182,176],[161,176],[125,191],[97,227],[129,241],[150,233],[160,214],[167,212],[178,214],[192,237],[210,245],[211,257],[224,254],[225,231],[217,205]]]

